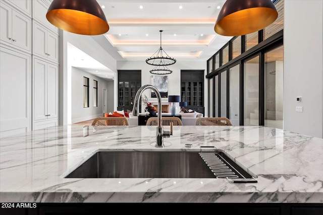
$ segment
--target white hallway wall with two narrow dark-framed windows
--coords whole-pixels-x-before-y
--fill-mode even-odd
[[[89,107],[87,108],[83,107],[83,77],[89,79]],[[75,67],[72,67],[72,80],[72,123],[103,116],[103,89],[109,89],[112,82],[109,84],[109,82]],[[93,80],[97,81],[97,107],[93,107]],[[110,99],[108,95],[107,101]]]

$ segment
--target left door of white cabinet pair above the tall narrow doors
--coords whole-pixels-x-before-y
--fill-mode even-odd
[[[33,53],[47,58],[47,30],[33,22]]]

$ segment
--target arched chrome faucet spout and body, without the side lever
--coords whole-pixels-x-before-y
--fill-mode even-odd
[[[164,136],[164,132],[163,132],[163,127],[161,127],[161,97],[160,97],[160,93],[157,90],[157,88],[155,88],[152,85],[144,85],[141,88],[139,88],[139,90],[136,93],[135,96],[135,101],[133,104],[133,109],[132,109],[132,115],[133,116],[138,116],[139,113],[139,99],[141,98],[141,94],[143,91],[147,90],[147,89],[151,89],[152,91],[155,92],[156,96],[157,96],[157,102],[158,102],[158,107],[157,107],[157,127],[156,127],[156,144],[155,147],[164,147],[164,140],[163,140],[163,136]]]

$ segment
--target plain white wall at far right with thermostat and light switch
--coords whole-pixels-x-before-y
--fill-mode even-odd
[[[323,133],[322,14],[323,1],[285,0],[284,129],[316,137]],[[296,112],[296,106],[303,106],[303,112]]]

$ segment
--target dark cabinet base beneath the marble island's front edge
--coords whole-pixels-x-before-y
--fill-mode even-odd
[[[2,215],[54,215],[54,214],[107,214],[113,209],[120,212],[154,211],[169,213],[170,208],[188,214],[192,209],[225,211],[237,215],[321,215],[319,203],[37,203],[36,208],[1,208]]]

